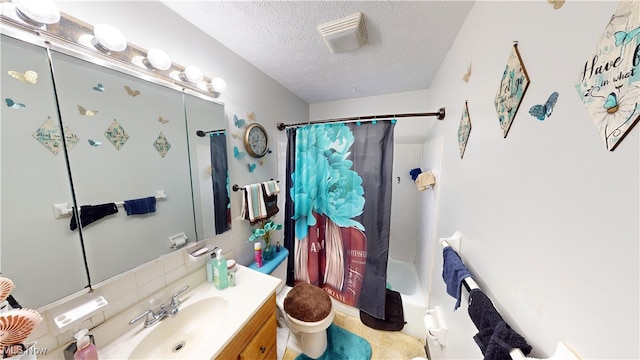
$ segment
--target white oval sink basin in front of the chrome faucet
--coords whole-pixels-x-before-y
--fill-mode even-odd
[[[229,300],[218,296],[181,307],[175,317],[153,325],[129,358],[200,358],[211,351],[211,339],[225,331],[228,310]]]

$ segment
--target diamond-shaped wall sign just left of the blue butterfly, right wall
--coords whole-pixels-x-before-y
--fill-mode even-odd
[[[496,94],[495,105],[502,136],[507,137],[513,118],[518,112],[524,93],[529,87],[529,75],[524,68],[518,44],[513,44],[507,66],[502,73],[500,88]]]

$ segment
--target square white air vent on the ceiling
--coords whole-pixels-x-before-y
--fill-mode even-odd
[[[362,13],[318,25],[318,30],[332,53],[355,50],[369,41]]]

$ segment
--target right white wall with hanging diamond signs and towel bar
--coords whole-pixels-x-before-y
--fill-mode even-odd
[[[640,358],[639,129],[607,151],[574,88],[616,6],[476,2],[429,92],[448,110],[430,134],[444,138],[438,237],[463,233],[463,260],[536,357],[565,340],[588,359]],[[504,139],[493,99],[514,40],[531,85]],[[551,117],[530,116],[553,91]],[[473,128],[461,160],[465,100]],[[454,314],[437,272],[433,281],[450,331],[432,354],[479,358],[466,308]]]

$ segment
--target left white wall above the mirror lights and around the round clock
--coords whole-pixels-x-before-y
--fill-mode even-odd
[[[131,44],[144,49],[161,48],[174,63],[195,65],[210,78],[225,79],[227,90],[219,100],[225,103],[227,128],[239,131],[233,116],[246,119],[247,113],[254,112],[255,120],[269,132],[273,150],[253,173],[248,170],[248,161],[252,160],[249,156],[242,160],[230,156],[230,183],[244,185],[277,178],[275,144],[286,136],[276,129],[276,124],[307,120],[306,102],[159,2],[56,1],[56,4],[60,11],[89,24],[104,22],[115,26]],[[229,154],[233,154],[234,146],[244,150],[241,140],[232,136],[227,139]],[[221,237],[216,245],[233,250],[238,263],[249,264],[253,261],[253,248],[246,242],[250,232],[248,222],[239,218],[240,204],[240,192],[232,192],[232,236]]]

